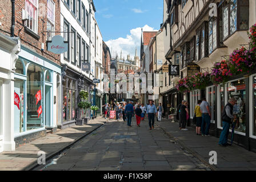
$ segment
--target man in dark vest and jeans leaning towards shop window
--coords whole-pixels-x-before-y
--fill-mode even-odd
[[[235,104],[237,104],[237,100],[235,100],[235,98],[230,98],[229,103],[227,103],[221,114],[223,130],[221,132],[221,137],[219,137],[219,145],[223,147],[230,145],[227,143],[227,138],[229,137],[230,124],[232,123],[233,119],[237,118],[236,115],[233,115],[233,106]]]

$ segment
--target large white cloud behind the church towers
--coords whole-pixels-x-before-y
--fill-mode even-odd
[[[153,27],[148,26],[147,24],[142,27],[143,31],[158,31],[154,30]],[[117,51],[118,56],[120,56],[120,52],[122,50],[122,57],[125,56],[125,59],[127,58],[127,55],[130,54],[131,58],[134,58],[135,55],[135,47],[137,47],[137,56],[140,56],[140,47],[141,47],[141,27],[134,28],[130,30],[130,34],[126,35],[126,38],[117,38],[117,39],[111,39],[106,42],[107,46],[109,46],[109,49],[111,51],[111,48],[113,49],[115,56],[115,51]]]

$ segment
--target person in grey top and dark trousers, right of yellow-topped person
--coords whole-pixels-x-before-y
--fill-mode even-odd
[[[211,123],[211,111],[210,111],[210,105],[206,101],[206,98],[203,98],[200,108],[202,113],[201,133],[202,133],[202,136],[208,137],[209,130],[210,130],[210,123]]]

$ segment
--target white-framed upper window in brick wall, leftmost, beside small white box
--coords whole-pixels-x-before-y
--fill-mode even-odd
[[[27,28],[30,28],[35,34],[38,31],[38,0],[26,0],[25,3],[28,20],[25,22]]]

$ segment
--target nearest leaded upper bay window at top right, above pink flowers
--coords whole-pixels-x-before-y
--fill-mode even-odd
[[[230,0],[221,5],[223,17],[223,39],[234,32],[249,29],[249,0]]]

